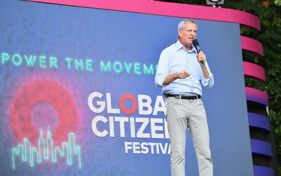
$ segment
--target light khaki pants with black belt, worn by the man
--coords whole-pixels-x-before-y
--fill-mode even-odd
[[[187,100],[166,97],[166,121],[171,144],[172,176],[185,175],[186,127],[193,140],[199,175],[213,175],[209,130],[201,99]]]

